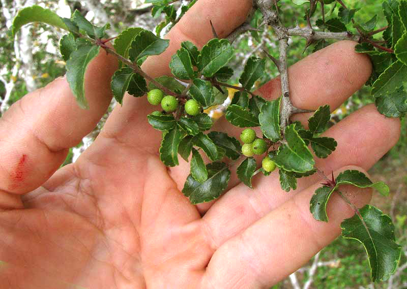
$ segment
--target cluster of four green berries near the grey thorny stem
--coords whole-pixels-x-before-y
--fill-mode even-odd
[[[256,133],[252,129],[246,129],[240,134],[240,139],[244,143],[242,153],[245,156],[253,156],[255,154],[263,154],[267,151],[268,146],[265,140],[258,139]],[[276,169],[276,164],[273,160],[266,156],[261,162],[263,169],[266,172],[272,172]]]

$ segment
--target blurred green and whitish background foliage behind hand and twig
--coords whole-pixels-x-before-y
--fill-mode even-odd
[[[335,3],[326,5],[325,14],[327,19],[336,17],[339,5],[335,5]],[[361,8],[355,16],[358,22],[366,22],[377,14],[379,23],[377,23],[376,27],[385,26],[382,1],[346,0],[345,3],[350,8]],[[25,26],[14,41],[7,36],[8,28],[16,11],[34,4],[53,9],[63,17],[69,17],[71,12],[77,9],[95,24],[110,22],[112,24],[108,31],[110,36],[115,36],[122,29],[131,26],[140,26],[155,31],[155,27],[165,19],[164,14],[153,18],[151,16],[151,6],[150,4],[144,4],[144,0],[0,0],[0,10],[2,11],[0,14],[0,115],[26,93],[38,87],[43,87],[56,77],[65,74],[65,62],[61,61],[62,58],[58,48],[63,31],[50,29],[50,27],[43,24],[34,24]],[[177,2],[173,5],[176,8],[180,7]],[[282,22],[286,23],[286,26],[306,26],[304,10],[307,5],[296,6],[291,0],[280,0],[279,6]],[[311,23],[314,24],[318,18],[321,18],[321,15],[321,7],[318,6]],[[252,24],[259,25],[260,23],[261,15],[255,14]],[[216,23],[214,23],[214,26],[216,27]],[[165,34],[165,32],[164,28],[161,35]],[[238,83],[243,63],[251,55],[267,57],[263,51],[263,49],[266,49],[271,55],[278,56],[277,41],[273,37],[272,31],[254,31],[245,34],[239,37],[234,45],[236,57],[232,59],[230,66],[235,70],[236,74],[230,80],[231,84]],[[307,49],[305,49],[305,46],[306,41],[304,39],[299,37],[290,39],[288,52],[290,64],[312,53],[313,45]],[[277,75],[278,72],[272,61],[267,61],[265,74],[263,78],[257,81],[257,87]],[[333,124],[360,107],[372,103],[373,99],[369,91],[369,87],[363,87],[338,108],[332,117]],[[230,93],[232,92],[230,91]],[[93,142],[114,106],[115,103],[112,101],[108,112],[95,130],[70,150],[64,165],[74,161]],[[273,288],[407,288],[407,256],[405,255],[407,252],[406,145],[407,122],[402,119],[402,134],[399,142],[369,171],[373,180],[386,181],[391,187],[391,196],[389,198],[384,199],[375,195],[372,202],[379,204],[386,213],[392,216],[395,222],[398,242],[404,246],[404,255],[400,262],[404,268],[401,268],[389,281],[372,284],[369,278],[370,272],[367,269],[369,267],[368,261],[363,248],[356,241],[338,238],[334,243],[318,253],[316,258],[311,260],[307,266],[299,269]]]

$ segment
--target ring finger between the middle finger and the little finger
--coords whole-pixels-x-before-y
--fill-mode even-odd
[[[315,167],[327,175],[350,164],[368,170],[397,142],[399,134],[398,119],[386,118],[373,105],[369,105],[324,134],[336,139],[338,146],[328,158],[317,159]],[[261,174],[255,176],[254,190],[239,184],[218,200],[203,217],[208,231],[212,232],[213,242],[220,246],[320,178],[319,174],[314,174],[298,179],[297,190],[288,194],[280,187],[277,170],[268,177]]]

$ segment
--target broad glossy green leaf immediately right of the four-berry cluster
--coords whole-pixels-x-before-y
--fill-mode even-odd
[[[314,169],[315,161],[294,126],[290,124],[285,128],[287,144],[282,145],[282,149],[272,160],[285,171],[305,173]]]

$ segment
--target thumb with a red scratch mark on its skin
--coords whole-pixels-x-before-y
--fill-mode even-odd
[[[58,78],[25,95],[0,118],[3,194],[39,187],[63,163],[68,148],[94,129],[110,103],[115,67],[117,60],[104,51],[90,63],[85,75],[89,110],[77,105],[66,78]]]

